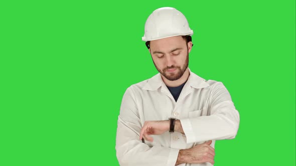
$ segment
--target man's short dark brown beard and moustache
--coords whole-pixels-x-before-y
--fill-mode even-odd
[[[188,50],[187,50],[187,57],[186,57],[186,60],[185,60],[185,63],[183,64],[183,66],[176,66],[176,65],[172,65],[172,66],[167,66],[166,68],[164,69],[160,69],[156,66],[155,62],[153,61],[155,67],[157,68],[157,70],[165,77],[167,78],[168,80],[177,80],[179,78],[182,77],[182,75],[184,74],[185,70],[187,69],[188,67],[188,63],[189,63],[189,53],[188,53]],[[172,68],[176,68],[176,71],[173,72],[173,73],[166,73],[166,71],[168,69],[172,69]]]

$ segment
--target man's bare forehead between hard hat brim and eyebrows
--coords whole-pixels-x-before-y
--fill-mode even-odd
[[[150,48],[152,50],[159,51],[166,51],[174,48],[183,48],[186,46],[186,41],[182,36],[166,37],[150,41]]]

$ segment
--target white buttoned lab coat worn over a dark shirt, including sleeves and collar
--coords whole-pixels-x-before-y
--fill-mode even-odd
[[[190,71],[190,70],[189,70]],[[153,142],[139,140],[146,120],[181,120],[185,134],[152,135]],[[175,165],[179,149],[207,140],[232,139],[239,126],[239,113],[222,82],[199,77],[190,71],[175,101],[160,73],[128,87],[123,95],[117,122],[116,155],[121,166]],[[183,163],[180,165],[212,165]]]

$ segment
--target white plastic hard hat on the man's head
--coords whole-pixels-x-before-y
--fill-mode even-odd
[[[152,12],[145,23],[143,41],[177,35],[192,35],[186,17],[173,7],[161,7]]]

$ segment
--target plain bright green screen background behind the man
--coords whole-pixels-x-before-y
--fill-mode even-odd
[[[190,69],[240,112],[215,165],[295,165],[295,1],[0,2],[0,165],[119,165],[122,95],[157,73],[141,36],[173,6],[194,30]]]

